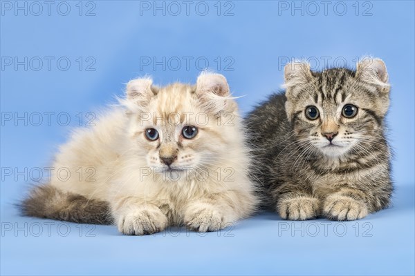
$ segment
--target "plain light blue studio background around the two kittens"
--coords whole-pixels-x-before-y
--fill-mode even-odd
[[[414,275],[414,2],[330,2],[326,11],[320,1],[217,2],[206,1],[203,16],[198,2],[189,14],[181,1],[179,14],[177,5],[164,2],[164,15],[153,1],[67,1],[65,16],[65,3],[57,10],[60,2],[54,2],[49,15],[45,5],[39,11],[31,2],[1,1],[1,275]],[[27,15],[16,3],[27,6]],[[383,59],[392,85],[396,192],[387,210],[341,224],[287,222],[265,213],[219,233],[172,228],[127,237],[113,226],[19,217],[13,206],[35,178],[29,171],[50,165],[56,147],[80,124],[77,114],[85,125],[86,112],[115,103],[113,95],[122,95],[133,77],[193,83],[207,60],[228,78],[234,95],[245,95],[238,101],[246,114],[282,84],[287,59],[308,59],[313,69],[324,60],[353,68],[362,55]],[[8,65],[15,57],[28,58],[27,70]],[[50,70],[44,57],[55,58]],[[67,70],[63,61],[57,66],[62,57],[71,61]],[[153,57],[165,57],[165,68],[143,63]],[[27,126],[6,120],[24,112]],[[46,115],[34,126],[33,112],[55,115],[50,126]],[[68,112],[68,126],[65,117],[57,121],[59,112]],[[28,173],[16,173],[25,168]]]

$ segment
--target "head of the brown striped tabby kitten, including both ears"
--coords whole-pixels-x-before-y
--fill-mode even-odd
[[[389,107],[385,63],[363,59],[355,71],[331,68],[313,72],[308,63],[284,69],[286,112],[297,139],[329,157],[339,157],[363,139],[377,135]]]

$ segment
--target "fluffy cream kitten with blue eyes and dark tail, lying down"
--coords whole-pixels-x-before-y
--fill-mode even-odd
[[[144,235],[171,225],[219,230],[252,214],[248,148],[225,77],[203,73],[196,86],[161,88],[133,79],[120,102],[60,148],[53,167],[71,177],[36,187],[25,215]],[[80,179],[89,168],[93,179]]]

